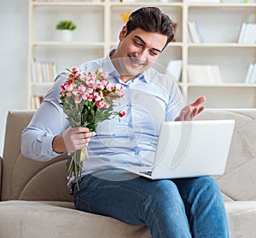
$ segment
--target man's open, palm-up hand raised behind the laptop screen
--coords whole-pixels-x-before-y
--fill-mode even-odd
[[[195,100],[193,104],[186,105],[179,115],[175,118],[175,121],[191,121],[201,111],[205,109],[205,106],[199,106],[206,101],[205,97],[200,97]]]

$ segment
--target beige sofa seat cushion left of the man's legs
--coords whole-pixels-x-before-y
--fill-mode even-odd
[[[125,224],[71,208],[71,202],[0,202],[0,237],[151,237],[145,225]]]

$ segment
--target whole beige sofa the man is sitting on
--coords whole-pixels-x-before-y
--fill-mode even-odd
[[[67,189],[66,156],[42,162],[21,155],[20,133],[33,113],[8,114],[0,163],[0,237],[151,237],[144,225],[76,211]],[[231,237],[256,237],[256,110],[207,110],[199,119],[236,120],[226,172],[216,179],[224,195]]]

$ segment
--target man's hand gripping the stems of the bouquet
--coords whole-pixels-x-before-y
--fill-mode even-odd
[[[95,136],[87,127],[68,127],[66,131],[57,135],[52,142],[53,150],[56,153],[81,150],[90,142],[90,137]]]

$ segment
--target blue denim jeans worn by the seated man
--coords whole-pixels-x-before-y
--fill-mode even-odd
[[[86,175],[75,207],[127,224],[146,224],[154,238],[230,237],[224,201],[211,177],[150,180],[123,170]]]

